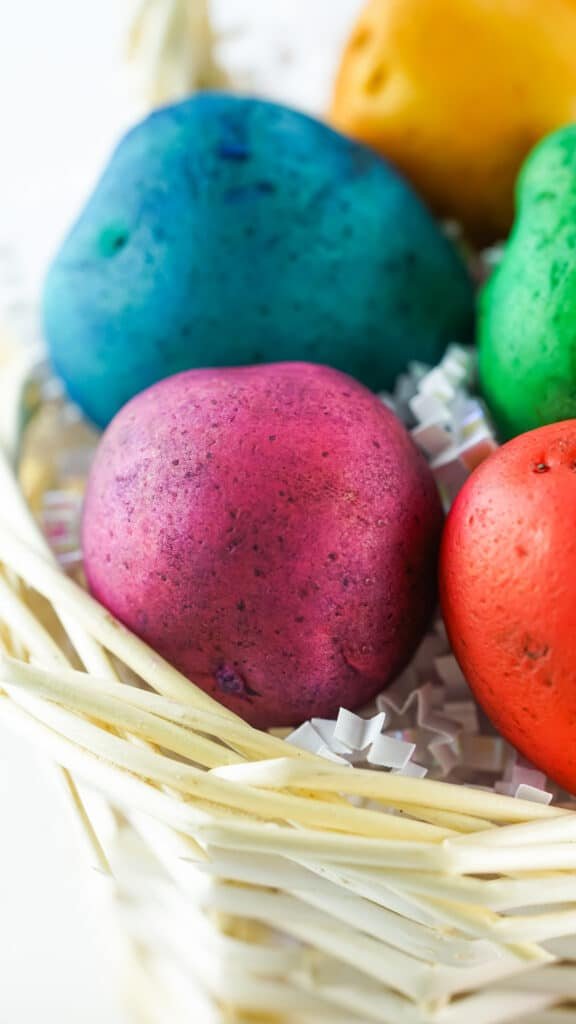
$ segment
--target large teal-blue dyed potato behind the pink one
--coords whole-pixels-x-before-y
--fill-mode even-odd
[[[327,364],[373,390],[471,334],[466,269],[372,151],[204,93],[120,143],[45,282],[53,366],[104,426],[181,370]]]

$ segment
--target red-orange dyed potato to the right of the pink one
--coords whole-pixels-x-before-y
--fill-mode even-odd
[[[448,516],[441,596],[454,652],[496,728],[576,793],[576,420],[509,441]]]

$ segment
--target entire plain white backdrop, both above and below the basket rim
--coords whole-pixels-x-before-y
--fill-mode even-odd
[[[130,121],[120,60],[130,6],[0,0],[0,247],[17,249],[25,291]],[[238,30],[227,58],[256,68],[262,91],[317,111],[359,7],[214,2],[218,25]],[[122,1024],[110,912],[48,767],[0,732],[0,1024]]]

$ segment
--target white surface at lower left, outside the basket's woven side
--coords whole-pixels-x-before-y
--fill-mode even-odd
[[[109,886],[50,767],[0,731],[0,1024],[121,1024]]]

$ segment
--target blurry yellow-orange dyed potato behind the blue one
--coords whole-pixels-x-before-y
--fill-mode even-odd
[[[481,243],[504,238],[539,138],[574,120],[574,0],[370,0],[331,117]]]

